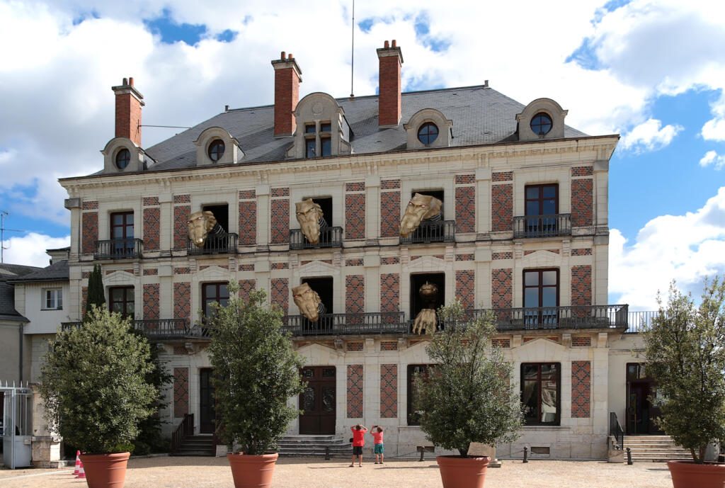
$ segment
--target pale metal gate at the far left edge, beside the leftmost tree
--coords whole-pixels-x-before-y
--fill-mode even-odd
[[[33,447],[30,432],[30,400],[33,390],[28,383],[0,384],[3,397],[2,434],[3,462],[10,469],[27,468],[31,465]]]

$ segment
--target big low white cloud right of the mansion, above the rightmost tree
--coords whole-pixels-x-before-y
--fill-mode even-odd
[[[703,279],[725,273],[725,186],[695,212],[661,215],[628,242],[617,229],[609,239],[609,293],[630,310],[656,310],[657,291],[676,280],[699,297]]]

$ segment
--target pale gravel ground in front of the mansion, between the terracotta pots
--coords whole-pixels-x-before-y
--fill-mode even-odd
[[[441,488],[435,460],[372,461],[349,468],[349,460],[281,458],[274,488]],[[84,488],[72,471],[0,470],[3,488]],[[489,468],[485,488],[665,488],[671,487],[664,463],[609,464],[600,461],[504,460]],[[225,458],[150,458],[130,460],[125,488],[233,488]]]

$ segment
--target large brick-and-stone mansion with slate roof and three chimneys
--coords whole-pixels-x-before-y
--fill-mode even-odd
[[[195,429],[211,433],[204,315],[228,298],[229,280],[243,295],[265,289],[306,360],[307,389],[291,399],[305,413],[289,434],[347,437],[356,423],[378,423],[388,452],[402,456],[426,444],[410,380],[430,363],[436,327],[420,334],[413,320],[459,299],[471,317],[494,310],[494,343],[525,405],[521,438],[499,455],[528,446],[606,458],[610,412],[625,416],[639,347],[624,335],[626,305],[607,302],[618,136],[588,136],[552,99],[519,104],[487,82],[401,93],[401,49],[386,41],[378,58],[378,96],[299,99],[302,70],[282,53],[273,105],[225,109],[149,148],[133,78],[113,87],[103,170],[61,180],[72,215],[70,320],[100,263],[109,306],[164,351],[168,429],[193,413]],[[323,214],[311,220],[316,242],[308,199]],[[423,218],[436,201],[434,218]],[[318,320],[295,304],[301,284],[317,292]],[[431,285],[436,294],[424,296]]]

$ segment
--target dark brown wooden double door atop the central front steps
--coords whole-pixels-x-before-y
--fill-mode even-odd
[[[310,366],[302,368],[305,391],[299,395],[300,434],[335,433],[335,367]]]

